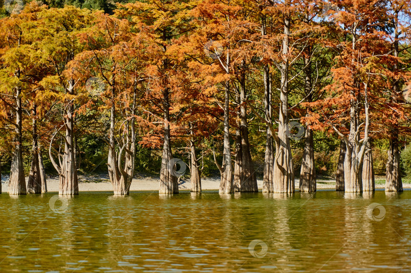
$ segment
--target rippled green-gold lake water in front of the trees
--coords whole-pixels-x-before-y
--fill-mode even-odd
[[[411,269],[411,191],[53,196],[1,194],[0,272]]]

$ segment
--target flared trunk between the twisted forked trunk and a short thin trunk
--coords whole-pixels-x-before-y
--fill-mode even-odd
[[[173,194],[179,193],[177,176],[174,173],[175,166],[172,165],[173,153],[170,140],[170,116],[169,116],[169,90],[163,90],[163,109],[164,109],[164,146],[161,160],[160,171],[160,190],[159,193]]]

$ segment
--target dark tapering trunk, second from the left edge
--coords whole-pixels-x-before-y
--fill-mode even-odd
[[[41,193],[42,192],[42,181],[40,177],[40,165],[39,165],[39,146],[38,146],[38,135],[37,135],[37,107],[33,103],[31,109],[32,115],[32,130],[33,130],[33,140],[31,148],[31,165],[30,174],[28,176],[27,182],[27,193]]]

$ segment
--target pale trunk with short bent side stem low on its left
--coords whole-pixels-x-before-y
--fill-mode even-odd
[[[223,166],[217,167],[220,170],[221,181],[219,193],[233,193],[233,173],[231,164],[231,149],[230,149],[230,84],[225,84],[225,99],[224,99],[224,144],[223,144]],[[217,161],[216,161],[217,164]]]

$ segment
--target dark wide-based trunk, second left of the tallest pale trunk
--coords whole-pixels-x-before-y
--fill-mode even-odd
[[[244,61],[242,68],[245,69]],[[239,91],[239,149],[237,150],[238,157],[236,158],[239,176],[234,175],[234,184],[237,185],[237,188],[234,188],[234,190],[241,192],[258,192],[257,177],[255,175],[255,170],[251,159],[250,141],[248,138],[245,71],[242,72]]]

